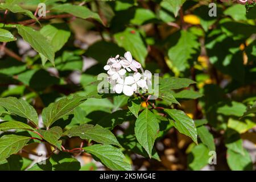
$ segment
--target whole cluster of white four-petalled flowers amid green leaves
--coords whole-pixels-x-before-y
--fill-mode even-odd
[[[125,53],[124,57],[119,57],[119,55],[115,56],[115,58],[111,57],[104,69],[108,71],[108,80],[115,93],[131,96],[139,88],[147,90],[152,85],[151,72],[148,70],[143,71],[141,64],[133,59],[129,51]],[[139,73],[138,69],[142,73]],[[131,72],[129,76],[126,76],[127,72]]]

